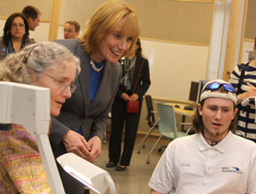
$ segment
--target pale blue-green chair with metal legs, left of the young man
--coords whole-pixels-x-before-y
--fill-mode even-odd
[[[158,118],[159,118],[158,124],[159,124],[160,137],[155,142],[152,149],[149,151],[147,163],[149,163],[149,157],[151,153],[154,151],[155,146],[162,139],[162,137],[166,137],[170,140],[174,140],[176,138],[186,136],[187,134],[189,134],[189,130],[190,130],[189,128],[187,132],[177,131],[177,123],[176,123],[176,117],[175,117],[173,106],[157,103],[157,112],[158,112]]]

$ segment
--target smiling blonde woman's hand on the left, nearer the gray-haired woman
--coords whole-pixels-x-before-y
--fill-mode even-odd
[[[84,139],[84,136],[69,130],[63,138],[63,143],[67,152],[73,152],[84,159],[90,157],[90,145]]]

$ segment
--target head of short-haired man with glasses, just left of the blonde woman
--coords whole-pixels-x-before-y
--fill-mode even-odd
[[[79,37],[80,25],[79,22],[70,20],[66,21],[64,25],[64,38],[76,38]]]

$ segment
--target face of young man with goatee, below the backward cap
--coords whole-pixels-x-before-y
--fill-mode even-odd
[[[219,141],[228,134],[230,123],[236,116],[234,103],[222,98],[208,98],[204,105],[198,105],[204,123],[203,134],[209,140]]]

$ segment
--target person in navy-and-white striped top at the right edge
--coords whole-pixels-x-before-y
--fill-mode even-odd
[[[254,51],[256,51],[256,37],[254,43]],[[239,90],[239,81],[241,79],[241,64],[235,66],[230,75],[229,82]],[[237,94],[237,105],[240,106],[238,115],[236,134],[253,140],[256,143],[256,123],[255,123],[255,100],[256,97],[256,59],[250,60],[245,65],[243,81],[241,83],[241,93]],[[252,97],[251,100],[243,104],[243,100]]]

